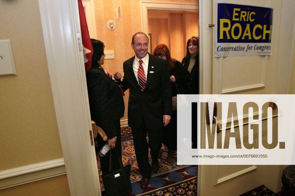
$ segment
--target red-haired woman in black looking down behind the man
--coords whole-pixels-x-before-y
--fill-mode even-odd
[[[181,65],[179,61],[171,58],[170,51],[165,44],[158,45],[153,55],[164,58],[169,67],[170,81],[172,86],[172,96],[177,94],[188,94],[187,83],[190,81],[189,72]],[[179,92],[177,91],[177,87]],[[175,150],[173,157],[177,156],[177,111],[172,111],[170,123],[164,127],[163,144],[165,149],[162,153],[162,159],[167,159],[169,150]]]

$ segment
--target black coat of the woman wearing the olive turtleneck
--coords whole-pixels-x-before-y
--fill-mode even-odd
[[[189,68],[189,60],[183,58],[181,64],[188,69]],[[199,94],[199,54],[196,55],[196,62],[191,69],[191,81],[189,83],[189,94]]]

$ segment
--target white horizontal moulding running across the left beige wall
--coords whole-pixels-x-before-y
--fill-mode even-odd
[[[65,175],[63,158],[0,171],[0,190]]]

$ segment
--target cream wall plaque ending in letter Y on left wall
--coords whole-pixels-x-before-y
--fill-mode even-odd
[[[0,76],[15,76],[14,59],[10,40],[0,40]]]

